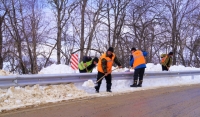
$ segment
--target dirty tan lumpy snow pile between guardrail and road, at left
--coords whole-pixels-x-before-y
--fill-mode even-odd
[[[88,93],[77,89],[74,84],[26,86],[0,89],[0,112],[14,108],[58,102],[74,98],[87,97]]]

